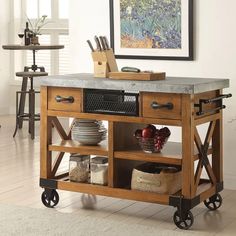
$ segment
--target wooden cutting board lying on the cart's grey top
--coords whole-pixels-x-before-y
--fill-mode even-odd
[[[165,72],[109,72],[109,79],[118,80],[164,80],[165,78]]]

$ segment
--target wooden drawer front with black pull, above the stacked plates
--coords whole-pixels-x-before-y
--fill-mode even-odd
[[[81,89],[48,88],[48,110],[81,112]]]

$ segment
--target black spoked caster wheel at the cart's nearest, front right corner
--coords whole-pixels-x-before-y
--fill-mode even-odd
[[[180,212],[176,211],[173,220],[175,225],[180,229],[189,229],[193,224],[193,214],[191,211],[186,212],[184,216],[181,217]]]

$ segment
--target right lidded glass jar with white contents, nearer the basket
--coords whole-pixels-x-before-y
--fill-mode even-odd
[[[91,184],[108,184],[108,158],[96,156],[91,159]]]

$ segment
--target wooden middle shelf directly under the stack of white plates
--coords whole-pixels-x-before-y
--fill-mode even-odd
[[[108,156],[107,141],[103,141],[96,146],[81,145],[74,140],[63,140],[48,147],[49,151],[80,153],[83,155],[101,155]]]

